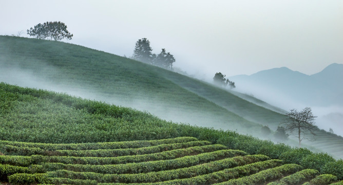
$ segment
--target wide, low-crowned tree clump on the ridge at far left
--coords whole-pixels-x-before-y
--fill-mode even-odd
[[[35,36],[37,39],[46,39],[61,41],[62,39],[71,40],[73,34],[67,30],[67,26],[62,22],[46,22],[37,24],[27,30],[27,34]]]

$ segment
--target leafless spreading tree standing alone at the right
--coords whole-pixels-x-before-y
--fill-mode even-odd
[[[305,107],[302,111],[298,112],[296,109],[291,109],[283,123],[285,125],[285,131],[290,133],[296,133],[295,137],[299,139],[299,147],[301,147],[301,141],[308,139],[308,134],[316,135],[314,131],[317,130],[310,107]]]

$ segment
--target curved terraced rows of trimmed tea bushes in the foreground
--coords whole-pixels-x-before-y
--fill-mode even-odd
[[[343,184],[334,175],[194,137],[79,144],[0,141],[0,151],[1,181],[12,184]]]

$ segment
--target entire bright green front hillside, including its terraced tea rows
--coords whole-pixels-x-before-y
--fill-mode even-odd
[[[343,183],[307,149],[6,83],[0,100],[0,183]]]

